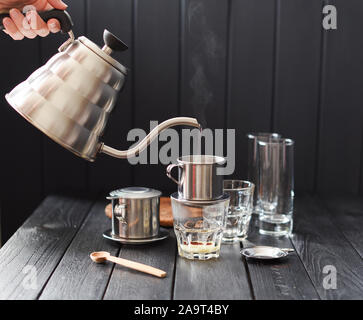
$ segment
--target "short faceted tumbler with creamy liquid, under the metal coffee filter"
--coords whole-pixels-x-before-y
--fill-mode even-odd
[[[181,257],[195,260],[218,258],[229,196],[218,200],[185,200],[171,196],[174,231]]]

